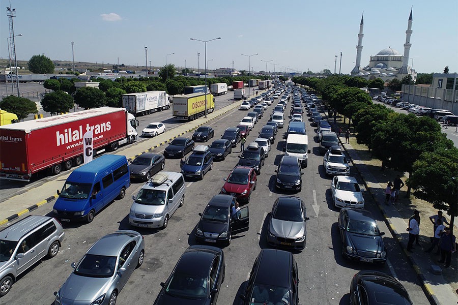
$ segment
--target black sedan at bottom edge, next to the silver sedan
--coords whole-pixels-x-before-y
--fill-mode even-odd
[[[224,282],[225,263],[221,249],[191,246],[180,257],[154,305],[216,304]]]

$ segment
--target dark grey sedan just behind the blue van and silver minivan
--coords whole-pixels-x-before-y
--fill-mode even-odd
[[[151,153],[141,154],[129,166],[131,180],[148,181],[151,176],[164,169],[165,158]]]

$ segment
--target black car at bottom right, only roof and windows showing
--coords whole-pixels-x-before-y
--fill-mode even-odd
[[[350,284],[350,305],[412,305],[406,288],[395,278],[378,271],[359,271]]]

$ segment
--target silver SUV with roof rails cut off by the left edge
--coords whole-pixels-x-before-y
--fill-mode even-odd
[[[55,218],[36,215],[0,231],[0,296],[10,291],[22,272],[45,256],[56,256],[64,235]]]

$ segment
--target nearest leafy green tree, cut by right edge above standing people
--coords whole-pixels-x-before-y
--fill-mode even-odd
[[[413,164],[407,185],[415,197],[450,215],[450,228],[458,216],[458,149],[437,149],[420,155]],[[453,230],[453,229],[452,229]]]

